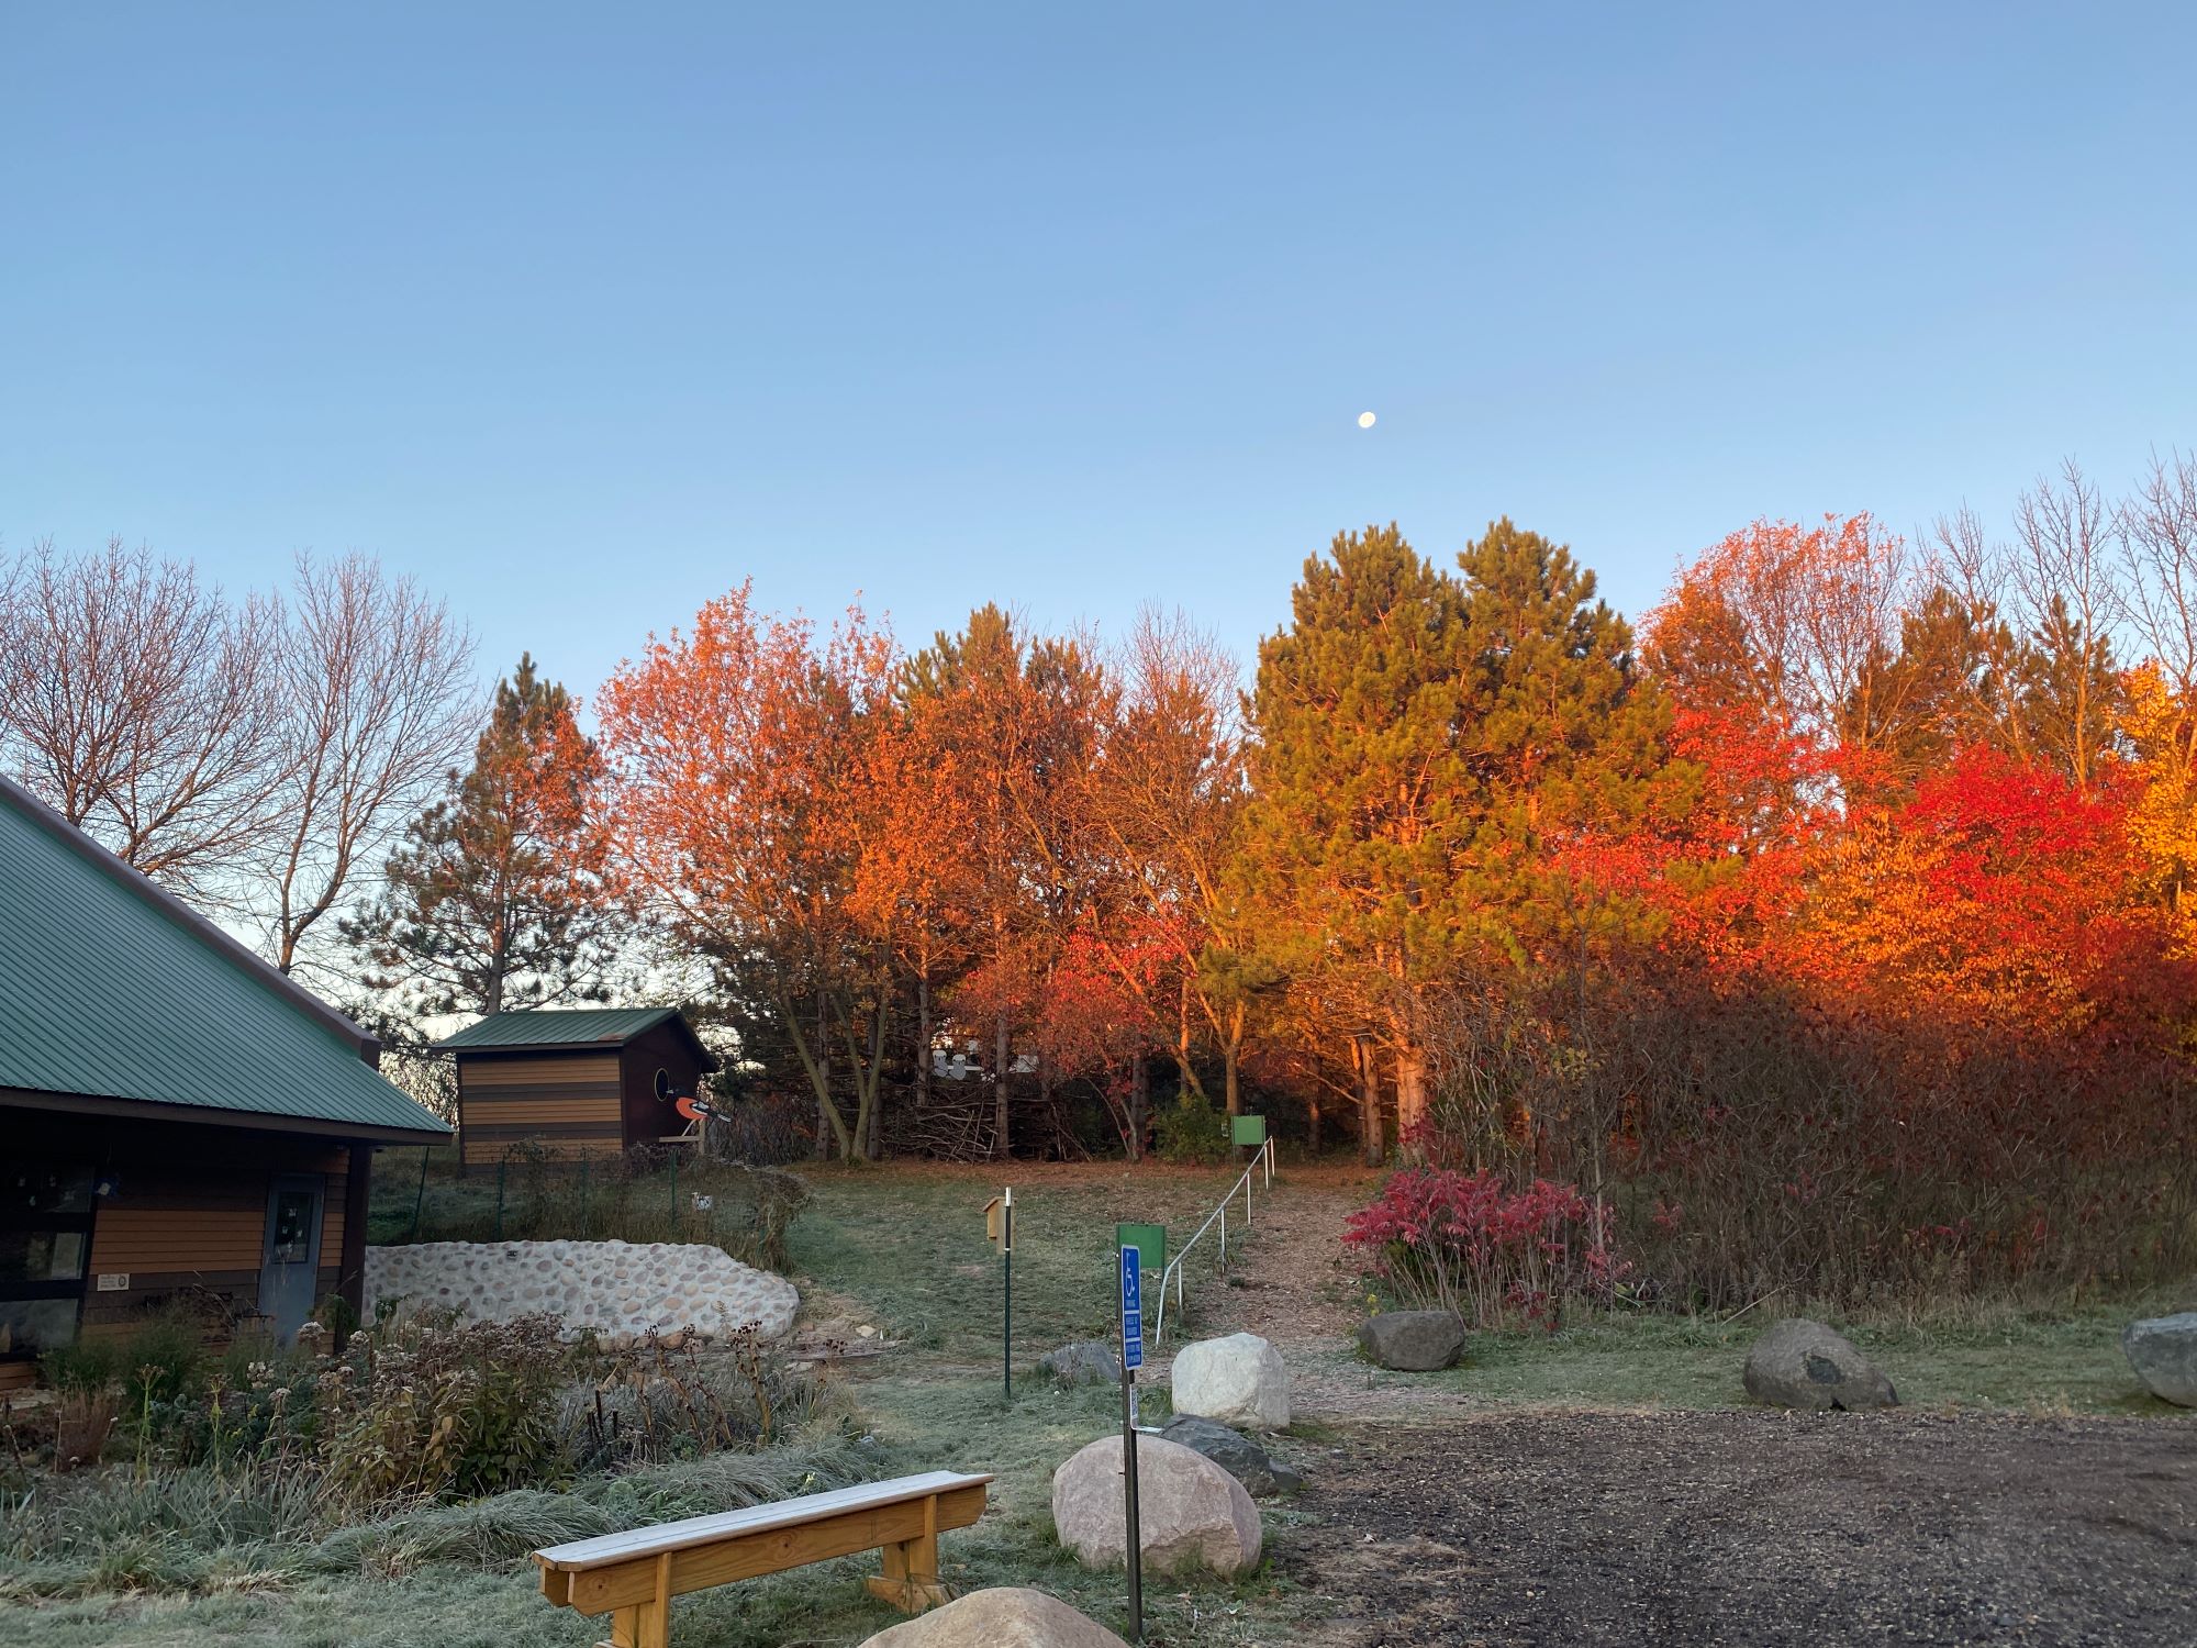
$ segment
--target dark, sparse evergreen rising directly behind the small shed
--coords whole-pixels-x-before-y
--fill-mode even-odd
[[[525,655],[497,686],[472,769],[448,773],[389,855],[380,899],[345,923],[369,984],[420,1015],[604,1000],[617,923],[576,710]]]

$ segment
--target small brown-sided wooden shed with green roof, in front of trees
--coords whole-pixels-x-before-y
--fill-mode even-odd
[[[688,1127],[677,1099],[718,1068],[677,1006],[490,1013],[435,1046],[457,1057],[468,1169],[518,1145],[578,1160],[677,1138]]]

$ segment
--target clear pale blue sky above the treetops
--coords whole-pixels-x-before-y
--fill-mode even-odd
[[[0,547],[369,549],[591,690],[754,576],[1250,653],[2197,444],[2186,7],[0,7]],[[1360,431],[1360,411],[1380,413]]]

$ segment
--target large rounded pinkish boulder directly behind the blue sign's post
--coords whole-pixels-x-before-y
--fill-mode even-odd
[[[1259,1565],[1259,1507],[1244,1483],[1164,1437],[1136,1439],[1136,1521],[1147,1573]],[[1052,1525],[1085,1567],[1127,1567],[1120,1437],[1101,1437],[1052,1472]]]

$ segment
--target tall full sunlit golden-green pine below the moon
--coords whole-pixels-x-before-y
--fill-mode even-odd
[[[1593,574],[1509,521],[1457,563],[1393,525],[1338,536],[1261,642],[1250,701],[1248,875],[1285,965],[1362,1004],[1404,1129],[1426,1112],[1432,991],[1573,962],[1624,914],[1582,897],[1591,850],[1685,782]]]

